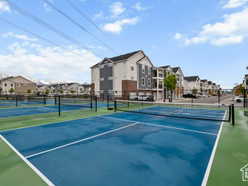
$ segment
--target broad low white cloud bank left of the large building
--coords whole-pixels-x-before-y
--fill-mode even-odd
[[[90,67],[99,62],[88,50],[47,47],[17,42],[0,54],[0,73],[24,75],[36,80],[90,82]]]

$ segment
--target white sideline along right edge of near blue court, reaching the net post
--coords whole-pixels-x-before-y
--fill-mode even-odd
[[[223,119],[226,118],[226,114],[227,114],[227,111],[225,112],[225,114],[223,116]],[[211,156],[210,156],[210,159],[209,159],[209,162],[208,162],[208,166],[207,166],[207,169],[206,169],[204,178],[202,180],[201,186],[206,186],[207,185],[208,177],[209,177],[210,171],[211,171],[211,167],[212,167],[213,162],[214,162],[214,156],[215,156],[215,153],[216,153],[216,150],[217,150],[217,146],[219,144],[219,140],[220,140],[220,135],[221,135],[221,132],[222,132],[223,124],[224,124],[224,121],[221,123],[220,130],[219,130],[218,135],[217,135],[217,138],[215,140],[214,148],[212,150],[212,153],[211,153]]]

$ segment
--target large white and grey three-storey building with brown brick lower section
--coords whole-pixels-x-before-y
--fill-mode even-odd
[[[135,95],[153,95],[154,66],[141,50],[104,58],[91,67],[92,87],[97,96],[111,94],[128,98]]]

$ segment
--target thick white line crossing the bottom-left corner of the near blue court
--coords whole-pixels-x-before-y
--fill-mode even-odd
[[[28,161],[7,139],[2,135],[0,138],[49,186],[55,186],[44,174],[42,174],[30,161]]]

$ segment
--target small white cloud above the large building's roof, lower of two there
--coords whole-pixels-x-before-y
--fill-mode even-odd
[[[134,18],[126,18],[122,20],[115,21],[113,23],[107,23],[103,26],[103,30],[106,32],[112,33],[120,33],[123,30],[123,27],[126,25],[135,25],[137,24],[139,19],[137,17]]]

